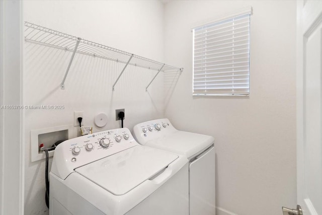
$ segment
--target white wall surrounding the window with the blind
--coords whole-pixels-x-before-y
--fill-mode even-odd
[[[191,28],[247,6],[250,96],[193,98]],[[215,137],[217,215],[282,214],[296,205],[295,30],[295,1],[165,6],[165,61],[185,68],[165,116],[178,129]]]

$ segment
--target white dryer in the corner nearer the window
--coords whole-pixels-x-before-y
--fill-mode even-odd
[[[189,214],[214,215],[215,149],[212,136],[179,131],[169,119],[134,126],[139,144],[186,156],[189,159]]]

